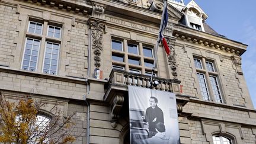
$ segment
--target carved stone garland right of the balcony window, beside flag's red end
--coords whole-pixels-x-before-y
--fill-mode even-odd
[[[178,73],[176,72],[177,69],[177,62],[176,62],[176,53],[175,53],[175,41],[176,39],[173,37],[166,37],[167,44],[171,50],[170,55],[168,56],[168,65],[171,66],[172,70],[172,76],[174,76],[174,79],[177,79]]]

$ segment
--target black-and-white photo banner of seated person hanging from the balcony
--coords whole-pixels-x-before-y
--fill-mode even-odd
[[[129,86],[130,143],[180,144],[175,94]]]

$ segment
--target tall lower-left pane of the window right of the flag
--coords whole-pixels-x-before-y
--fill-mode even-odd
[[[197,79],[199,81],[201,95],[203,96],[203,99],[206,101],[210,101],[209,98],[209,92],[206,85],[206,79],[204,78],[203,73],[197,73]]]

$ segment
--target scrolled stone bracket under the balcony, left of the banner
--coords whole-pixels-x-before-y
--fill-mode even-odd
[[[119,113],[123,107],[124,97],[123,95],[116,95],[113,100],[111,107],[111,126],[115,128],[117,126],[117,121],[119,119]]]

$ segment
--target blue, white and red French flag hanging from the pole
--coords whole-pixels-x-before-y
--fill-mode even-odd
[[[161,20],[161,25],[159,28],[159,37],[160,37],[162,45],[165,48],[165,52],[167,53],[167,55],[170,55],[171,51],[168,47],[168,44],[167,44],[167,41],[165,40],[164,35],[162,34],[164,32],[165,28],[167,27],[167,21],[168,21],[167,4],[166,4],[166,1],[164,1],[162,20]]]

